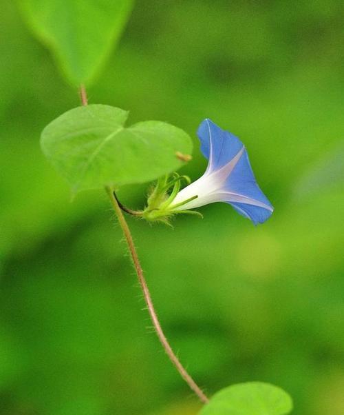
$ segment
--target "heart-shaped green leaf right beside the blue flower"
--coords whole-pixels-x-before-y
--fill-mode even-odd
[[[44,154],[80,190],[144,183],[177,170],[190,154],[186,132],[160,121],[125,127],[128,112],[109,105],[74,108],[42,132]]]

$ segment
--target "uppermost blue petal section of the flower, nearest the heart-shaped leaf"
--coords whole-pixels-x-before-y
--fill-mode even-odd
[[[207,170],[222,168],[244,145],[236,136],[222,130],[210,119],[202,121],[197,135],[201,141],[201,152],[209,160]]]

